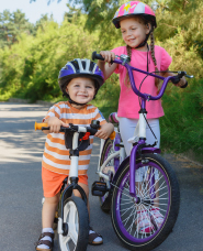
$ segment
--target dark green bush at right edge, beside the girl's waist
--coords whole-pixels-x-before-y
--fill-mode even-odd
[[[162,103],[161,149],[173,153],[193,150],[203,156],[203,80],[191,81],[183,90],[173,87],[170,96],[163,96]]]

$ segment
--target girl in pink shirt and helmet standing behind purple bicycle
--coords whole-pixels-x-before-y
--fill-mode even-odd
[[[171,64],[171,57],[160,46],[154,45],[154,29],[157,26],[156,17],[153,10],[145,3],[139,1],[131,1],[121,6],[114,18],[113,23],[116,29],[121,28],[122,37],[126,46],[120,46],[112,51],[101,51],[100,54],[104,57],[103,61],[99,61],[99,67],[104,74],[104,79],[109,78],[112,73],[120,74],[120,100],[117,116],[120,117],[120,131],[124,142],[124,146],[127,155],[131,153],[131,144],[127,142],[134,134],[138,121],[139,101],[138,97],[131,88],[127,70],[124,66],[117,64],[105,64],[115,58],[115,55],[127,54],[131,57],[131,65],[133,67],[147,70],[158,72],[163,77],[173,76],[168,70]],[[150,36],[150,45],[147,41]],[[165,73],[161,73],[165,72]],[[135,84],[139,88],[145,75],[138,72],[133,72]],[[187,85],[185,78],[182,78],[177,86]],[[156,96],[160,89],[160,83],[158,78],[147,77],[140,88],[142,92]],[[161,101],[149,101],[146,103],[147,119],[154,133],[158,140],[158,148],[160,144],[160,129],[159,118],[163,116]],[[126,130],[127,128],[127,130]],[[147,143],[153,144],[155,138],[149,128],[147,128]],[[140,171],[142,172],[142,171]],[[139,182],[139,181],[136,181]],[[138,211],[139,212],[139,211]],[[151,210],[156,222],[160,226],[163,217],[159,209],[155,207]],[[148,233],[153,230],[154,226],[150,220],[150,216],[146,214],[146,217],[139,217],[138,215],[138,229],[142,233]]]

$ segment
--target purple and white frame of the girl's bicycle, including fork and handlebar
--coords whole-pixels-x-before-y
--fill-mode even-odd
[[[135,171],[137,170],[136,157],[138,155],[138,149],[142,148],[142,153],[160,153],[160,149],[158,149],[158,148],[150,148],[150,146],[147,148],[146,146],[146,120],[145,120],[145,117],[147,114],[146,101],[160,99],[162,97],[163,92],[165,92],[165,89],[167,87],[168,81],[173,76],[169,76],[169,77],[158,76],[158,75],[155,75],[153,73],[148,73],[148,72],[132,67],[127,63],[124,64],[123,61],[117,59],[117,58],[114,59],[112,63],[122,64],[122,65],[124,65],[126,67],[127,72],[128,72],[132,89],[142,99],[138,123],[137,123],[137,127],[135,129],[134,138],[129,139],[131,143],[136,143],[133,146],[133,149],[131,151],[131,155],[129,155],[129,195],[135,198],[135,203],[138,203],[139,198],[136,196],[136,190],[135,190],[135,175],[136,175]],[[148,94],[142,94],[135,86],[135,81],[134,81],[134,77],[133,77],[133,70],[137,70],[139,73],[145,74],[145,75],[153,76],[153,77],[156,77],[156,78],[159,78],[159,79],[163,80],[163,84],[161,86],[161,89],[160,89],[159,94],[156,97],[154,97],[151,95],[148,95]],[[103,149],[103,144],[104,144],[104,142],[101,143],[100,155],[101,155],[101,152],[102,152],[102,149]],[[111,154],[105,160],[103,165],[100,166],[100,172],[98,172],[98,174],[99,174],[100,177],[103,177],[105,181],[108,181],[108,183],[110,183],[110,178],[109,178],[108,175],[102,173],[102,170],[104,168],[104,166],[108,164],[109,161],[111,161],[112,159],[114,159],[116,156],[120,156],[120,154],[123,156],[123,151],[122,150]],[[122,161],[124,159],[122,159]],[[122,167],[123,167],[123,165],[121,163],[117,172],[122,171]],[[98,166],[98,170],[99,170],[99,166]],[[113,181],[116,178],[116,176],[117,175],[115,175],[113,177]],[[110,184],[109,184],[109,186],[110,186]]]

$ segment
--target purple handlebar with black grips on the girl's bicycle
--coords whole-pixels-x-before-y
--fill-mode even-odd
[[[94,59],[104,61],[102,55],[97,54],[97,52],[92,53],[92,61],[94,61]],[[137,96],[144,98],[145,100],[158,100],[158,99],[160,99],[165,92],[165,89],[166,89],[169,80],[171,80],[173,84],[178,84],[183,76],[188,77],[188,78],[193,78],[193,76],[187,75],[185,72],[178,72],[178,75],[176,75],[176,76],[162,77],[162,76],[159,76],[159,75],[156,75],[153,73],[148,73],[148,72],[135,68],[135,67],[128,65],[129,62],[131,62],[131,58],[127,55],[116,56],[116,58],[114,61],[111,61],[112,64],[115,63],[115,64],[120,64],[120,65],[123,65],[126,67],[128,75],[129,75],[129,80],[131,80],[131,86],[132,86],[133,91]],[[163,84],[161,86],[159,94],[156,97],[148,95],[148,94],[142,94],[135,85],[134,77],[133,77],[133,70],[137,70],[139,73],[146,74],[147,76],[153,76],[153,77],[156,77],[156,78],[163,80]],[[185,88],[187,86],[188,86],[188,81],[185,83],[184,86],[181,86],[181,88]]]

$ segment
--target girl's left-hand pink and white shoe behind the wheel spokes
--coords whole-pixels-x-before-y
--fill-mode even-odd
[[[155,227],[150,221],[150,216],[146,210],[137,211],[137,219],[135,223],[137,225],[138,233],[149,234],[155,230]]]

